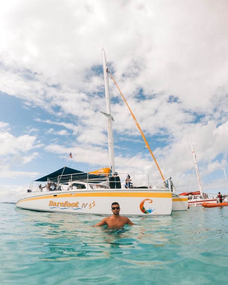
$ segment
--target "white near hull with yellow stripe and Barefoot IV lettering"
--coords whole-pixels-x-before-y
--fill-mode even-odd
[[[172,211],[172,194],[167,190],[102,190],[30,192],[16,207],[36,211],[71,214],[110,215],[111,204],[117,202],[121,215],[161,216]]]

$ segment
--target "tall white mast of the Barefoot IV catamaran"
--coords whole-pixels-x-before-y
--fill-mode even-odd
[[[109,85],[108,85],[108,68],[107,68],[104,48],[102,48],[102,56],[103,56],[104,81],[105,81],[106,113],[104,112],[101,113],[107,116],[109,165],[110,165],[110,173],[112,174],[115,171],[114,144],[113,144],[113,131],[112,131],[112,121],[114,121],[114,119],[111,114],[111,103],[110,103]]]

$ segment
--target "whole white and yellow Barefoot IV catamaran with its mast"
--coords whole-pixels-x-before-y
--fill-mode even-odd
[[[121,215],[150,217],[170,215],[172,210],[186,210],[187,198],[174,194],[171,178],[163,179],[162,183],[153,187],[147,174],[116,175],[109,71],[104,49],[102,58],[106,112],[101,113],[107,117],[109,167],[90,173],[63,167],[32,182],[26,197],[20,199],[16,207],[35,211],[110,215],[111,203],[118,202]],[[134,187],[126,189],[121,181],[125,181],[129,174],[134,177]],[[46,185],[42,187],[41,182],[46,182]]]

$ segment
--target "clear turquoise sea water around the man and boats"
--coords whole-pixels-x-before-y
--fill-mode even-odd
[[[0,284],[227,284],[227,216],[192,207],[111,230],[0,203]]]

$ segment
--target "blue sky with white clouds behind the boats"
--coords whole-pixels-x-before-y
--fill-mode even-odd
[[[226,0],[9,0],[0,10],[0,197],[109,166],[102,54],[165,178],[228,194]],[[109,79],[116,171],[160,173]],[[69,158],[72,153],[73,159]],[[8,199],[9,200],[9,199]]]

